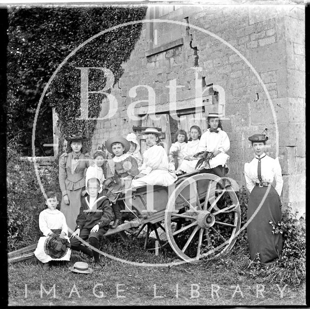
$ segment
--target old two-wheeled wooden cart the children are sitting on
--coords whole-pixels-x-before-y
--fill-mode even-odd
[[[138,187],[130,195],[121,192],[118,201],[139,219],[110,228],[104,236],[120,233],[124,239],[125,230],[139,225],[134,234],[137,237],[147,227],[146,248],[152,229],[163,245],[157,232],[161,228],[177,256],[189,262],[218,257],[230,250],[240,229],[237,195],[231,187],[223,188],[222,180],[213,174],[197,171],[180,176],[170,187]],[[35,245],[28,248],[9,253],[9,262],[33,256]]]

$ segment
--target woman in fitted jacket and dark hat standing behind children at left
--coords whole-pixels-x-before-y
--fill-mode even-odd
[[[72,152],[59,158],[59,185],[62,190],[61,211],[66,218],[69,234],[74,231],[81,206],[81,196],[86,194],[84,171],[91,157],[81,152],[82,142],[87,139],[81,131],[66,137]]]

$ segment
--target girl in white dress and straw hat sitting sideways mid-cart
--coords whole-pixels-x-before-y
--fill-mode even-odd
[[[143,164],[139,168],[140,174],[132,180],[132,186],[170,186],[177,177],[175,173],[169,172],[167,153],[164,147],[158,145],[160,132],[155,128],[147,128],[141,134],[146,136],[145,140],[149,148],[143,153]]]

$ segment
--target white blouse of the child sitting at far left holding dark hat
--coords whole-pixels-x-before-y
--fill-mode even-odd
[[[39,214],[39,228],[44,236],[47,236],[52,229],[61,229],[68,235],[68,227],[64,214],[58,209],[45,209]]]

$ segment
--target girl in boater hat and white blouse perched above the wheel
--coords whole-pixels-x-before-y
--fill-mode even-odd
[[[218,114],[209,114],[207,119],[209,128],[202,134],[198,151],[210,153],[208,165],[204,166],[206,172],[221,177],[224,180],[224,186],[228,187],[231,183],[225,178],[223,167],[229,159],[229,155],[226,152],[230,148],[230,141],[227,133],[222,130]]]

